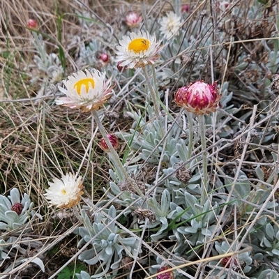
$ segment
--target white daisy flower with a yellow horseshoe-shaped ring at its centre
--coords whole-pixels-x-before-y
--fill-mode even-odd
[[[64,89],[58,86],[66,97],[57,98],[56,105],[64,105],[71,109],[81,109],[84,112],[98,110],[112,95],[110,80],[105,81],[105,73],[93,69],[92,72],[80,70],[63,80]]]

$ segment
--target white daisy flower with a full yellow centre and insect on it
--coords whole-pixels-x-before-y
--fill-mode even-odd
[[[160,42],[156,41],[155,35],[149,32],[139,31],[130,33],[130,36],[123,36],[117,48],[116,62],[121,61],[120,66],[128,68],[144,67],[153,64],[162,49]]]

